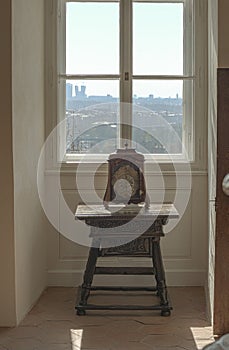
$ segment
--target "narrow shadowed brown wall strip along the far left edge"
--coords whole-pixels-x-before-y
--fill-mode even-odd
[[[0,11],[0,327],[13,326],[15,310],[14,202],[11,106],[11,1]]]

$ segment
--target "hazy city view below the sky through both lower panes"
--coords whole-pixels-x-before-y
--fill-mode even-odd
[[[113,152],[117,148],[119,104],[119,99],[111,95],[88,96],[86,85],[67,83],[67,153]],[[154,98],[153,94],[135,97],[132,129],[137,149],[149,153],[180,153],[182,117],[183,100],[178,94],[175,98]]]

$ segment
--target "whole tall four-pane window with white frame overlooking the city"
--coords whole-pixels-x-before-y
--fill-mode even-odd
[[[196,119],[204,114],[199,2],[59,0],[56,9],[52,2],[57,55],[49,56],[49,111],[63,122],[66,159],[127,142],[158,159],[182,159],[186,150],[195,160]]]

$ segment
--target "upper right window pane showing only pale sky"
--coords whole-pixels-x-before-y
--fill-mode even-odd
[[[133,4],[134,74],[183,74],[183,4]]]

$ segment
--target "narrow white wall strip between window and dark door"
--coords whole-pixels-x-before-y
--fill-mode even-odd
[[[217,67],[218,67],[218,0],[208,4],[208,198],[209,198],[209,267],[208,313],[212,321],[215,273],[215,198],[217,147]]]

